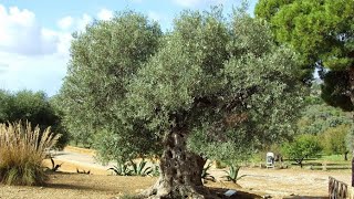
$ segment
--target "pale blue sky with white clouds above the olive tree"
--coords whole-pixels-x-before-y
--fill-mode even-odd
[[[241,0],[0,0],[0,88],[58,93],[70,59],[71,33],[114,11],[135,10],[158,21],[163,30],[184,9],[205,10]],[[257,0],[250,0],[253,10]]]

